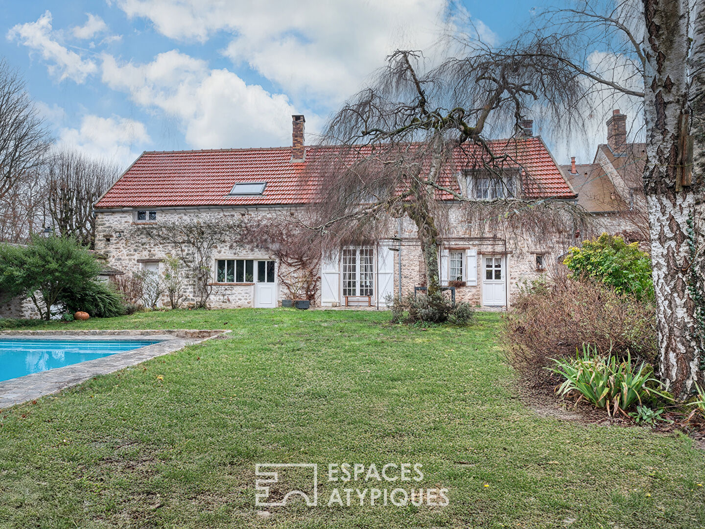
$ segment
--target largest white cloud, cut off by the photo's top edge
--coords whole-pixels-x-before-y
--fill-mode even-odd
[[[119,0],[118,5],[173,39],[205,42],[215,32],[231,32],[224,53],[233,63],[246,63],[292,96],[323,97],[329,106],[356,92],[393,49],[427,49],[455,21],[446,20],[448,0]],[[474,23],[482,37],[496,39],[482,21]]]

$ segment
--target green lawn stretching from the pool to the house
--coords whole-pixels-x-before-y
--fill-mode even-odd
[[[705,453],[689,438],[539,417],[517,398],[498,315],[467,329],[386,320],[243,309],[48,324],[233,332],[2,413],[0,524],[705,526]],[[257,513],[255,463],[274,462],[318,463],[322,505]],[[343,462],[422,463],[405,487],[445,487],[450,504],[326,506],[341,487],[327,465]]]

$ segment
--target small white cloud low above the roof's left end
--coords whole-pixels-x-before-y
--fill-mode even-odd
[[[120,116],[82,117],[78,128],[59,129],[59,147],[74,147],[92,157],[114,160],[127,166],[134,162],[145,144],[152,140],[140,121]]]

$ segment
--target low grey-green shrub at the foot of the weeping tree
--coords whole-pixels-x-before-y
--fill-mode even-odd
[[[444,323],[467,325],[474,318],[474,309],[465,301],[451,301],[446,295],[414,296],[403,298],[388,296],[393,323]]]

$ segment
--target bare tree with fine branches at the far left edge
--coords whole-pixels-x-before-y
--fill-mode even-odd
[[[25,81],[0,59],[0,199],[37,171],[49,142],[42,118],[25,92]]]

